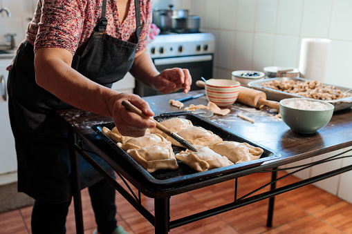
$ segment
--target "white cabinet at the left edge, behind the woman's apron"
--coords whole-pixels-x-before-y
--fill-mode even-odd
[[[10,119],[8,117],[8,95],[6,85],[8,80],[8,71],[6,66],[10,64],[11,59],[0,59],[0,185],[7,184],[8,175],[17,173],[17,159],[15,152],[15,139],[12,135],[10,127]],[[4,99],[6,97],[6,99]],[[4,179],[6,177],[7,179]],[[16,177],[11,177],[13,180]]]

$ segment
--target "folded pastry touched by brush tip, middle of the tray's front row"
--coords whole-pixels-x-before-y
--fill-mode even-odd
[[[181,151],[175,155],[176,159],[198,172],[233,165],[227,157],[215,153],[206,146],[194,147],[196,147],[197,152],[191,150]]]

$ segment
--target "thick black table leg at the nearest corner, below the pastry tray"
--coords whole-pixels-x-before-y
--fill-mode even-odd
[[[154,199],[155,219],[154,227],[156,234],[166,234],[169,232],[169,208],[170,197]]]

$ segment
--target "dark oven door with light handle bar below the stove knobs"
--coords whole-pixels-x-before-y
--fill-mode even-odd
[[[201,89],[196,86],[196,81],[204,77],[205,79],[212,78],[214,57],[213,55],[194,55],[185,57],[168,57],[153,59],[154,65],[159,72],[167,68],[186,68],[192,76],[191,90]],[[177,92],[183,92],[178,90]],[[161,95],[162,93],[144,86],[136,81],[135,93],[140,97]]]

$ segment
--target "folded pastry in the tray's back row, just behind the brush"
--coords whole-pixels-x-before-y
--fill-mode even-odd
[[[177,132],[177,135],[196,146],[210,146],[216,142],[223,141],[221,137],[212,133],[212,131],[197,126],[181,130],[180,132]],[[167,137],[167,140],[172,142],[174,146],[181,146],[180,143],[176,142],[171,137]]]

